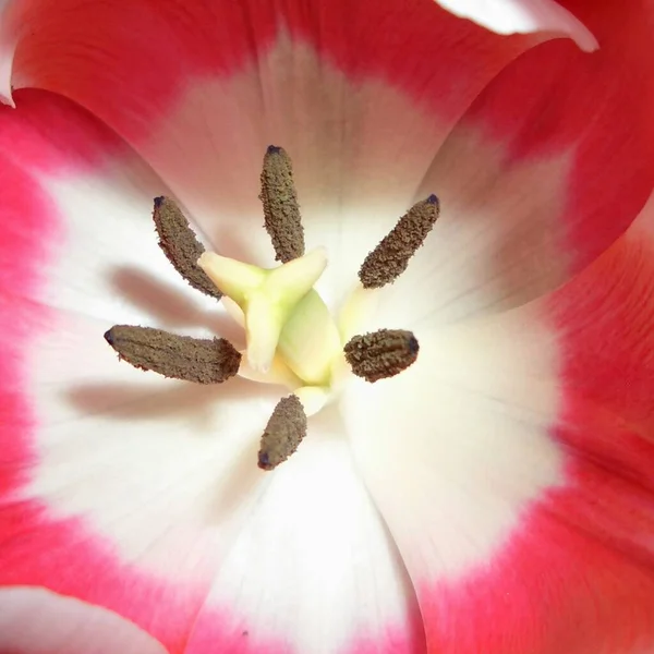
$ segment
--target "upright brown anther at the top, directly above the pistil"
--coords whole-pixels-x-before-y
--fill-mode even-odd
[[[288,263],[304,254],[304,229],[293,183],[291,158],[270,145],[264,156],[262,194],[266,231],[272,240],[275,259]]]

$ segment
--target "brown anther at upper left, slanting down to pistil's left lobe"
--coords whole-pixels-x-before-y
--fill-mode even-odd
[[[174,269],[194,288],[220,300],[222,293],[197,265],[205,249],[191,229],[177,203],[170,197],[155,197],[153,219],[159,246]]]

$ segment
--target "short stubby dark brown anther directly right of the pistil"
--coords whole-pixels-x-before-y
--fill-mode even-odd
[[[352,372],[371,384],[405,371],[417,359],[419,350],[413,332],[403,329],[379,329],[355,336],[344,347]]]

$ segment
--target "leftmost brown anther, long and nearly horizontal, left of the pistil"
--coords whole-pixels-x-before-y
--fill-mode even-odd
[[[220,384],[239,372],[241,354],[223,338],[196,339],[152,327],[114,325],[105,334],[119,359],[184,382]]]

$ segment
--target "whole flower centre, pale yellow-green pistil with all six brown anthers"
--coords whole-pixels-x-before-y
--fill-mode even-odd
[[[265,228],[281,262],[277,268],[206,252],[169,197],[155,198],[153,214],[170,263],[192,287],[222,301],[245,329],[245,350],[239,352],[223,338],[194,339],[128,325],[113,326],[105,338],[119,359],[166,377],[221,384],[238,374],[289,388],[291,395],[279,401],[262,436],[258,465],[272,470],[295,451],[306,435],[307,417],[336,396],[350,370],[376,383],[415,362],[420,348],[411,331],[349,336],[355,334],[353,323],[366,294],[407,269],[438,218],[439,205],[435,195],[415,204],[366,256],[361,283],[337,324],[314,289],[327,255],[323,249],[305,254],[292,164],[282,148],[268,147],[261,181]]]

